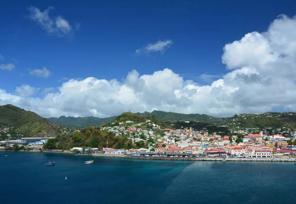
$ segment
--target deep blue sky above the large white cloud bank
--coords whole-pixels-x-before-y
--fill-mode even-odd
[[[116,79],[124,84],[133,69],[141,76],[164,68],[184,77],[184,81],[193,80],[192,84],[211,85],[231,71],[226,68],[227,63],[222,63],[225,44],[240,40],[251,32],[266,32],[278,15],[292,18],[296,14],[295,7],[296,1],[292,0],[74,0],[71,3],[63,0],[4,0],[0,2],[0,65],[13,64],[14,68],[0,69],[0,89],[13,96],[42,100],[45,88],[54,88],[55,93],[61,93],[59,87],[70,79]],[[60,28],[57,25],[48,27],[47,21],[44,29],[34,13],[36,9],[40,12],[48,9],[47,17],[52,22],[60,16],[61,23],[67,23],[66,27],[65,24]],[[166,46],[160,46],[166,42]],[[150,50],[147,49],[149,46]],[[137,49],[140,54],[136,53]],[[44,67],[47,70],[45,75],[42,72]],[[22,96],[22,90],[16,91],[16,87],[25,85],[34,87],[34,92]],[[115,100],[114,97],[111,99]],[[7,97],[2,98],[2,103],[8,102],[11,101]],[[34,102],[29,103],[31,105],[23,107],[34,109]],[[148,103],[148,110],[159,107],[194,112],[168,107],[168,103],[166,106]],[[252,106],[249,111],[285,109],[282,108],[285,105],[288,108],[287,104],[264,104],[256,110]],[[62,112],[81,115],[75,110]],[[225,114],[232,113],[227,110]],[[89,114],[108,115],[101,114],[100,110],[86,115]],[[56,114],[46,112],[43,115]]]

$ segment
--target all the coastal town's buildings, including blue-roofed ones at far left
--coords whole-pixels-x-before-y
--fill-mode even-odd
[[[185,121],[186,122],[186,121]],[[188,121],[189,122],[189,121]],[[1,134],[6,134],[13,127],[6,127],[0,130]],[[289,145],[296,139],[296,131],[289,130],[289,137],[282,134],[267,134],[260,131],[258,134],[250,133],[250,130],[232,131],[231,136],[223,133],[209,134],[207,128],[194,130],[193,128],[182,128],[178,130],[162,129],[159,125],[146,120],[135,123],[133,121],[114,121],[110,126],[100,128],[101,131],[113,133],[115,136],[128,136],[128,140],[133,144],[142,144],[141,148],[114,149],[105,147],[81,148],[73,147],[71,151],[77,152],[103,152],[111,155],[138,155],[138,156],[169,156],[169,157],[222,157],[222,158],[272,158],[296,156],[296,146]],[[67,134],[63,130],[63,134]],[[281,129],[277,129],[277,132]],[[77,130],[76,132],[80,132]],[[233,133],[237,133],[234,135]],[[7,134],[7,136],[10,136]],[[46,137],[22,137],[11,140],[8,137],[5,141],[0,141],[5,145],[29,145],[31,148],[41,149],[42,145],[50,138]],[[46,150],[45,150],[46,151]]]

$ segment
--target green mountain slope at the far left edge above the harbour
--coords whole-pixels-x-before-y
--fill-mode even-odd
[[[54,123],[35,112],[26,111],[11,104],[0,106],[1,127],[10,129],[14,127],[13,133],[24,137],[54,137],[58,134]]]

